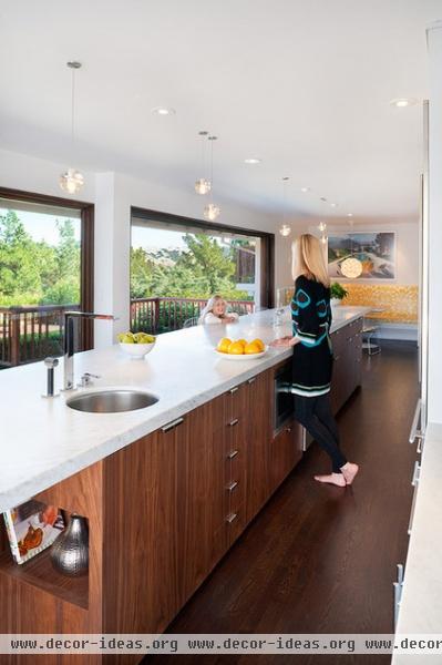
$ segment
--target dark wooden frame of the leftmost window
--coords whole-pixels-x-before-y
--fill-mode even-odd
[[[11,201],[23,201],[53,205],[80,211],[81,248],[80,248],[80,307],[83,311],[94,308],[94,204],[35,192],[0,187],[0,197]],[[93,321],[81,319],[82,349],[93,348]]]

